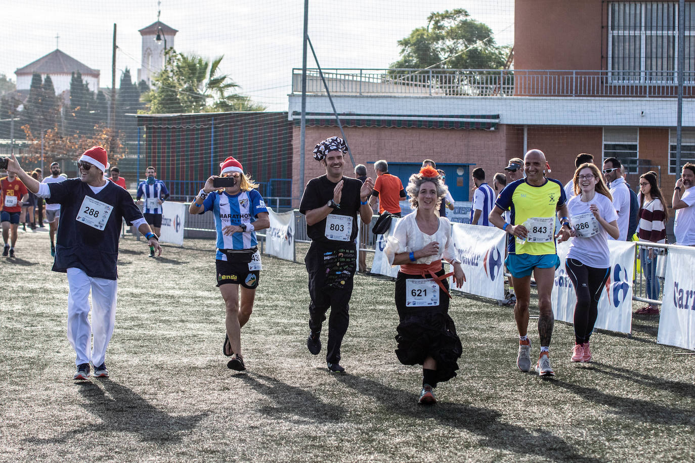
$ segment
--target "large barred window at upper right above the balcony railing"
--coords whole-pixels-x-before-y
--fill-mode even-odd
[[[695,82],[695,2],[685,2],[684,82]],[[677,83],[678,2],[612,1],[608,7],[612,81]]]

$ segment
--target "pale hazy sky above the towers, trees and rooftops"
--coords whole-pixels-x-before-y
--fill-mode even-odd
[[[488,24],[498,44],[514,42],[514,0],[309,0],[309,37],[322,67],[381,69],[398,60],[398,40],[425,26],[430,12],[454,8]],[[302,66],[303,9],[303,0],[163,0],[161,21],[178,29],[177,51],[224,55],[220,70],[240,93],[281,111],[292,69]],[[99,69],[101,87],[110,87],[113,24],[118,82],[126,67],[137,75],[138,29],[156,21],[158,2],[1,0],[0,10],[0,74],[15,81],[15,70],[54,51],[59,35],[60,50]]]

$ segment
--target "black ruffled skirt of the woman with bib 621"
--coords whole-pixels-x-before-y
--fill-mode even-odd
[[[444,271],[436,273],[442,276]],[[439,305],[436,307],[406,307],[406,280],[422,279],[419,275],[398,272],[395,280],[395,306],[400,323],[396,328],[398,346],[395,355],[404,365],[423,364],[427,357],[436,361],[438,381],[448,381],[459,369],[457,360],[463,348],[456,334],[454,321],[449,317],[449,296],[439,288]],[[447,280],[442,281],[449,289]]]

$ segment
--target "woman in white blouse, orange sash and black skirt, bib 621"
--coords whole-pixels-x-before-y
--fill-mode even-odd
[[[457,260],[451,224],[437,217],[447,188],[435,169],[423,167],[410,177],[406,188],[415,212],[398,220],[385,253],[391,265],[400,265],[395,282],[395,305],[400,323],[395,339],[396,355],[405,365],[423,366],[419,403],[436,403],[434,388],[459,369],[461,340],[449,317],[449,284],[442,259],[453,267],[454,282],[466,280]]]

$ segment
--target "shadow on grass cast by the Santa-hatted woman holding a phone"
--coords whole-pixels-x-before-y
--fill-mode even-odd
[[[273,402],[260,407],[259,412],[274,419],[282,417],[288,421],[299,421],[293,418],[300,416],[320,423],[336,423],[347,414],[345,408],[322,402],[311,392],[288,385],[271,376],[247,373],[237,375],[236,378],[243,380]]]

